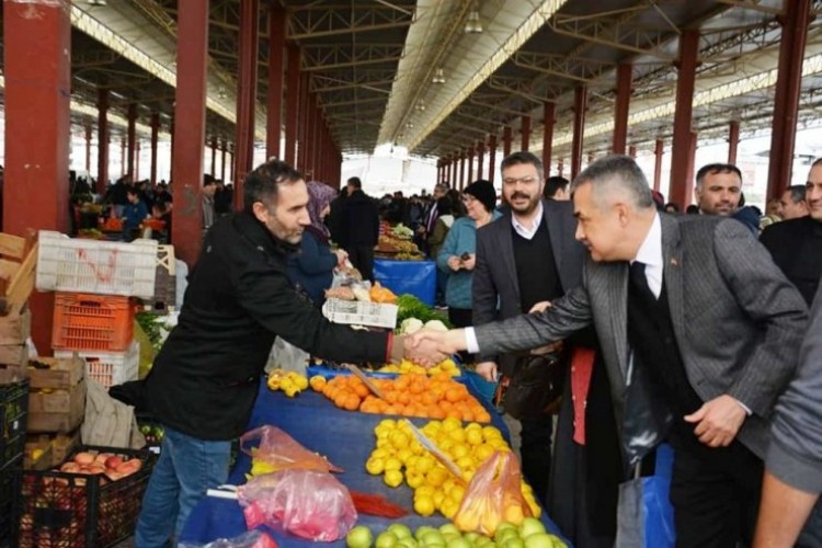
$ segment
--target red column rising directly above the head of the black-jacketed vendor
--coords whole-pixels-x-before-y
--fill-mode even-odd
[[[207,3],[207,2],[206,2]],[[237,162],[235,207],[242,208],[242,183],[254,161],[254,107],[256,105],[256,59],[260,0],[240,2],[240,53],[237,76]]]

